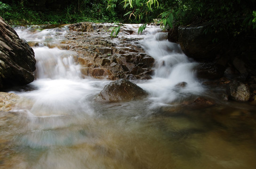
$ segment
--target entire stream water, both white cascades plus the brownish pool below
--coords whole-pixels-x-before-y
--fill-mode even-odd
[[[45,46],[64,39],[65,29],[16,29],[38,42],[36,80],[10,91],[21,99],[0,114],[0,168],[256,168],[255,106],[217,100],[212,93],[218,90],[196,79],[197,63],[160,40],[164,33],[152,28],[141,35],[140,45],[156,60],[155,74],[134,82],[149,96],[110,103],[98,94],[111,81],[82,76],[75,52]],[[187,103],[196,96],[217,104]]]

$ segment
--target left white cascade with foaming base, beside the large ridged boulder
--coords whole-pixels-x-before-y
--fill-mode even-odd
[[[80,109],[86,109],[88,115],[92,114],[88,104],[81,102],[100,91],[100,88],[94,87],[97,80],[82,78],[80,65],[74,61],[75,52],[44,46],[46,41],[57,43],[64,39],[66,31],[60,30],[16,29],[18,35],[29,43],[41,43],[32,47],[37,62],[35,81],[29,86],[35,90],[14,92],[32,101],[29,113],[34,116],[74,115]]]

